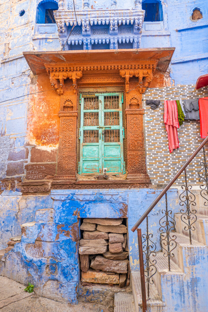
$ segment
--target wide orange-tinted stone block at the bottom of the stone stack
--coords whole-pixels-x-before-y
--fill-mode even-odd
[[[86,273],[82,272],[81,281],[88,283],[119,284],[119,274],[109,275],[104,272],[89,270]]]

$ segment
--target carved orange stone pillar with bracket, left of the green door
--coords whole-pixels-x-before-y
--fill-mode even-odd
[[[60,94],[60,137],[56,180],[76,180],[77,79],[82,71],[50,71],[50,81]],[[72,84],[64,90],[64,80]]]

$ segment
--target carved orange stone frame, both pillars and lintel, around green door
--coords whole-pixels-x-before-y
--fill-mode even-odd
[[[107,66],[107,65],[106,65]],[[118,85],[116,77],[119,77],[119,83],[125,84],[126,99],[126,123],[127,123],[127,180],[148,181],[146,169],[146,155],[143,129],[142,93],[145,92],[147,86],[152,81],[153,72],[156,64],[136,64],[129,66],[128,64],[120,64],[114,66],[108,73],[103,65],[97,66],[104,71],[103,85]],[[131,67],[131,68],[129,68]],[[113,70],[115,68],[115,70]],[[47,68],[50,74],[51,85],[58,94],[60,94],[60,140],[58,153],[58,168],[56,180],[70,180],[72,183],[76,181],[76,163],[77,163],[77,95],[78,88],[82,85],[90,86],[100,85],[99,81],[95,81],[94,76],[98,73],[93,66],[88,69],[83,66],[79,70],[72,69],[70,66],[50,66]],[[98,75],[97,75],[98,76]],[[91,77],[91,80],[90,80]],[[104,78],[105,77],[105,78]],[[112,77],[109,78],[109,77]],[[69,78],[72,80],[71,87],[65,90],[64,81]],[[114,78],[114,79],[113,79]],[[122,78],[122,79],[121,79]],[[112,81],[110,81],[112,80]],[[130,181],[129,181],[130,182]]]

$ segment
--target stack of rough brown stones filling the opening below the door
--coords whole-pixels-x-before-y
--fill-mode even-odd
[[[123,219],[84,219],[80,226],[81,281],[129,285],[127,227]]]

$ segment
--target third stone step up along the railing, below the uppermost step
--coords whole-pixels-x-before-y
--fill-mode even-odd
[[[161,234],[161,237],[164,234]],[[189,236],[185,236],[178,232],[170,233],[170,237],[176,236],[176,248],[171,251],[174,254],[172,257],[172,261],[179,266],[179,268],[184,271],[184,267],[195,266],[196,265],[196,257],[197,254],[201,254],[204,249],[207,250],[207,246],[192,239],[192,245],[190,244]],[[164,248],[162,248],[163,252],[166,252]]]

